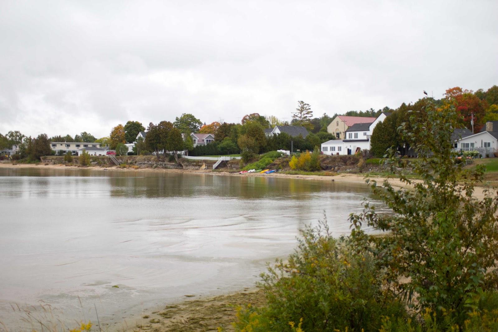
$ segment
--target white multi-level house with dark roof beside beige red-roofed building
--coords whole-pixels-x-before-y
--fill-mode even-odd
[[[322,143],[323,154],[343,155],[355,154],[357,150],[370,150],[370,137],[373,128],[382,122],[390,113],[382,112],[372,122],[353,123],[343,132],[342,140],[335,139]]]

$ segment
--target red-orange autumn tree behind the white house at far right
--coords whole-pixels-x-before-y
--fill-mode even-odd
[[[463,90],[460,87],[448,89],[445,93],[445,102],[455,107],[460,123],[468,129],[478,132],[484,126],[487,102],[480,100],[471,90]],[[471,123],[472,117],[474,117],[474,128]]]

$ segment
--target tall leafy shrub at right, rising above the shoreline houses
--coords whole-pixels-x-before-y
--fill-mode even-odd
[[[454,164],[451,134],[458,123],[452,109],[429,109],[424,123],[411,119],[412,126],[400,132],[419,159],[407,162],[389,150],[386,163],[413,189],[395,190],[387,181],[381,188],[373,181],[373,193],[394,214],[378,214],[366,203],[363,214],[351,216],[353,236],[358,246],[382,258],[379,268],[394,281],[392,290],[417,313],[430,310],[437,322],[463,327],[483,292],[498,285],[498,196],[485,191],[484,199],[476,200],[483,168]],[[407,178],[407,167],[422,182]],[[389,234],[368,235],[362,225]]]

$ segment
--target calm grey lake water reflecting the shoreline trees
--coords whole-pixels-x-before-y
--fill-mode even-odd
[[[348,233],[368,195],[332,181],[0,169],[0,321],[17,331],[19,306],[97,322],[96,306],[117,327],[185,295],[252,287],[324,212]]]

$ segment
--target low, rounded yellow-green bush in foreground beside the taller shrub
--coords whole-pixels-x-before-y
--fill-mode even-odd
[[[239,310],[238,331],[290,331],[289,322],[302,319],[303,331],[370,332],[380,329],[382,315],[406,316],[371,253],[333,238],[326,222],[301,234],[287,262],[277,260],[261,275],[268,305]]]

